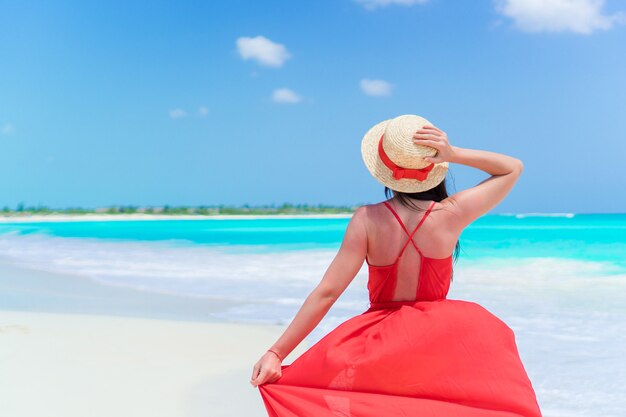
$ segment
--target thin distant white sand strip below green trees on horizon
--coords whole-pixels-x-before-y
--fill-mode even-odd
[[[0,216],[0,223],[70,222],[70,221],[128,221],[128,220],[257,220],[257,219],[347,219],[343,214],[34,214]]]

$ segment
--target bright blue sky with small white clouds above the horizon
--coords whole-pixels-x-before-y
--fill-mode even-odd
[[[0,0],[0,57],[0,206],[376,202],[413,113],[522,159],[493,212],[626,211],[619,1]]]

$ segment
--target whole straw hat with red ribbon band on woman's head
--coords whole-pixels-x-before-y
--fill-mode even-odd
[[[439,185],[448,172],[448,162],[428,163],[423,158],[437,155],[437,149],[418,145],[415,132],[428,120],[413,114],[387,119],[367,131],[361,141],[361,155],[370,173],[392,190],[416,193]]]

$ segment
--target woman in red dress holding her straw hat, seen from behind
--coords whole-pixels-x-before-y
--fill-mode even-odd
[[[254,365],[250,382],[270,417],[541,416],[512,329],[477,303],[446,298],[461,232],[511,191],[522,162],[450,145],[415,115],[372,127],[361,151],[393,197],[354,212],[321,282]],[[451,162],[491,177],[448,196]],[[363,261],[369,309],[282,365]]]

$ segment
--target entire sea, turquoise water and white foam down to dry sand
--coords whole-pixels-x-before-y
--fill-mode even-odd
[[[44,274],[0,270],[0,307],[287,324],[348,221],[0,223],[3,265]],[[486,215],[460,244],[448,298],[478,302],[515,331],[545,416],[626,415],[626,214]],[[367,309],[366,274],[309,343]]]

